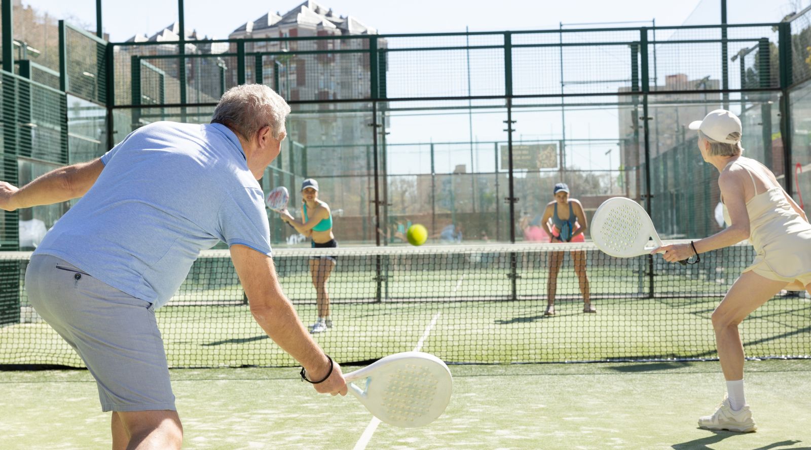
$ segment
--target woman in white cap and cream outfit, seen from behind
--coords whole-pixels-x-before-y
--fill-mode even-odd
[[[757,251],[753,264],[744,269],[712,314],[727,396],[713,415],[698,419],[698,426],[710,430],[755,431],[744,398],[744,347],[738,324],[781,289],[811,293],[811,225],[775,174],[741,156],[741,126],[735,114],[716,109],[689,127],[698,131],[704,161],[720,172],[723,215],[729,226],[709,238],[662,246],[654,252],[665,251],[664,259],[676,262],[747,238]]]

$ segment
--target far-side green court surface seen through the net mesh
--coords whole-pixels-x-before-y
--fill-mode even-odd
[[[358,362],[414,349],[447,362],[565,362],[715,358],[710,314],[718,298],[607,298],[598,314],[582,303],[545,300],[383,302],[333,305],[335,328],[316,340],[338,361]],[[298,305],[304,322],[314,305]],[[805,355],[808,299],[775,298],[740,329],[749,355]],[[165,306],[157,311],[171,367],[289,366],[248,306]],[[800,337],[798,337],[800,336]],[[45,323],[0,328],[7,364],[81,366]],[[15,359],[14,355],[19,355]]]

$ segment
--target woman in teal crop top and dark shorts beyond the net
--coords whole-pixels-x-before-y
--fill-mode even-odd
[[[305,236],[311,238],[313,248],[335,248],[338,242],[333,235],[333,214],[329,205],[318,199],[318,182],[307,178],[302,182],[302,208],[303,221],[297,221],[290,212],[281,214],[281,220]],[[333,328],[333,320],[329,317],[329,294],[327,280],[333,272],[337,256],[311,256],[310,274],[312,284],[315,286],[315,302],[318,307],[318,319],[310,326],[310,332],[325,332]]]

